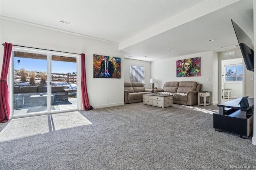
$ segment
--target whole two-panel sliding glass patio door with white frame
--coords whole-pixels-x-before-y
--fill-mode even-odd
[[[79,55],[12,50],[12,117],[78,110]]]

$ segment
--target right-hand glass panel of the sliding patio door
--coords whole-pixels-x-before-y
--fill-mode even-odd
[[[77,109],[76,57],[52,55],[51,92],[54,97],[52,111]]]

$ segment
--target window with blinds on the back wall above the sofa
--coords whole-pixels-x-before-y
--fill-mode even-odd
[[[145,84],[145,67],[130,65],[130,81],[142,82]]]

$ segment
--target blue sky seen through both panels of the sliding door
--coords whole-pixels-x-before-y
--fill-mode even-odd
[[[18,63],[20,60],[20,63]],[[14,69],[26,71],[47,72],[47,60],[14,57]],[[52,73],[73,73],[76,71],[76,63],[65,61],[52,61]]]

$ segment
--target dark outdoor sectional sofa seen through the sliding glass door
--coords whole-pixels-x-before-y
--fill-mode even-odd
[[[47,94],[47,87],[14,86],[14,107],[30,104],[30,96]],[[68,101],[68,91],[64,86],[52,86],[52,104],[54,101]]]

